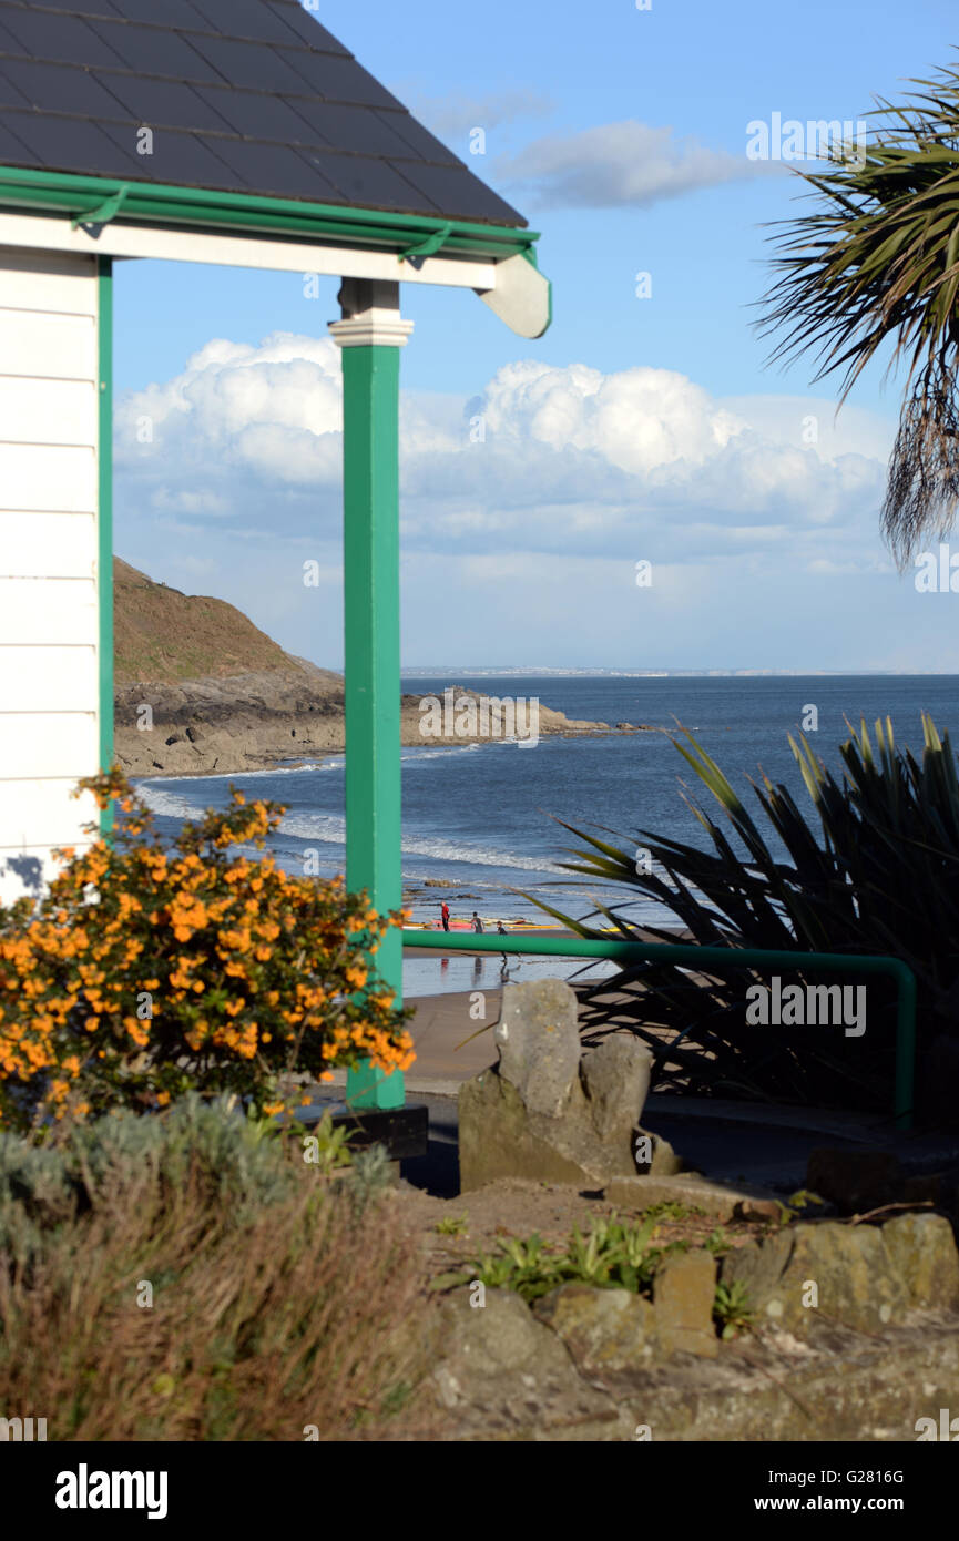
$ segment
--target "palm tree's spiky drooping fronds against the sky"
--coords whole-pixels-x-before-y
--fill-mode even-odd
[[[883,504],[900,567],[959,505],[959,71],[910,85],[902,105],[879,99],[857,154],[792,168],[816,206],[774,237],[760,321],[785,330],[772,361],[811,351],[816,381],[842,371],[840,401],[877,353],[908,364]]]

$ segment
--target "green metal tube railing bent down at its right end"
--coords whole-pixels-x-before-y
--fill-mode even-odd
[[[887,974],[896,983],[896,1128],[913,1126],[916,1080],[916,975],[893,957],[851,952],[791,952],[766,948],[703,948],[694,942],[589,942],[584,937],[501,937],[449,931],[402,931],[404,948],[441,952],[518,952],[540,957],[609,959],[623,963],[675,963],[680,968],[782,968],[843,974]]]

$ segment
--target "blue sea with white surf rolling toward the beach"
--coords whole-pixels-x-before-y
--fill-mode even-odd
[[[601,888],[561,866],[575,840],[563,823],[614,844],[638,849],[649,837],[706,844],[691,801],[711,812],[718,804],[677,750],[683,730],[718,763],[746,806],[755,800],[749,778],[766,774],[786,783],[800,807],[809,806],[789,735],[806,724],[816,754],[840,766],[848,723],[890,717],[896,741],[919,749],[922,712],[959,746],[959,675],[648,675],[648,673],[407,673],[404,690],[441,697],[447,687],[538,701],[609,724],[632,723],[638,734],[578,738],[540,737],[532,746],[490,740],[463,744],[429,740],[402,749],[402,877],[415,922],[438,925],[446,900],[455,920],[473,911],[487,929],[520,918],[550,923],[538,903],[589,917],[600,903],[646,925],[675,925],[649,900]],[[523,732],[523,726],[520,727]],[[173,838],[185,818],[228,801],[233,781],[250,795],[287,809],[271,841],[290,872],[344,871],[344,757],[302,766],[222,777],[154,778],[139,783],[157,829]],[[720,821],[722,815],[720,815]],[[816,820],[811,820],[816,828]],[[762,828],[762,824],[760,824]],[[774,849],[776,838],[769,835]],[[782,854],[782,848],[780,848]],[[404,995],[492,988],[503,977],[526,980],[561,972],[598,977],[607,965],[557,965],[555,960],[475,960],[410,957]]]

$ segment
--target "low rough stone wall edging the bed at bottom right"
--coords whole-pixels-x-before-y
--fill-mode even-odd
[[[529,1307],[504,1288],[452,1291],[429,1344],[442,1438],[954,1439],[959,1253],[945,1216],[791,1225],[728,1253],[722,1281],[748,1287],[752,1318],[729,1341],[703,1250],[668,1254],[652,1301],[584,1282]]]

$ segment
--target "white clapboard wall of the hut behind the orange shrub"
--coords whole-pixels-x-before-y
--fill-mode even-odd
[[[82,848],[99,769],[96,260],[3,247],[0,216],[0,898]],[[111,581],[111,573],[106,575]]]

